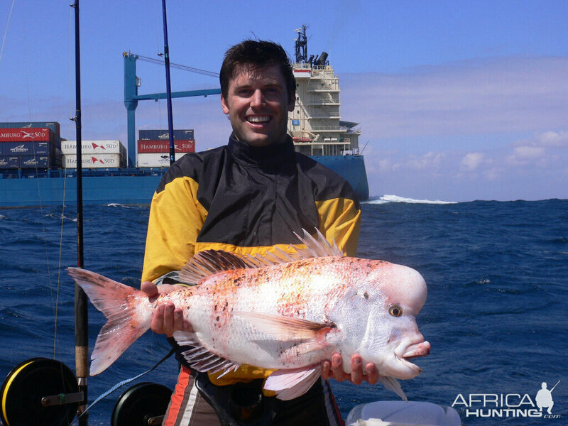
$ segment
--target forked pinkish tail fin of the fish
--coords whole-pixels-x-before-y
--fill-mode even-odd
[[[107,317],[91,354],[89,373],[94,376],[107,369],[150,328],[151,310],[149,302],[148,306],[145,303],[148,297],[135,297],[143,293],[86,269],[67,268],[67,271],[94,307]]]

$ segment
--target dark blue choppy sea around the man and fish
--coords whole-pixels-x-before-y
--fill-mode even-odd
[[[385,196],[362,205],[358,256],[420,271],[428,300],[417,317],[432,344],[422,374],[401,385],[409,400],[454,406],[464,425],[568,424],[568,200],[444,203]],[[138,286],[148,206],[84,208],[84,266]],[[72,280],[75,207],[0,210],[0,380],[37,356],[75,368]],[[104,323],[89,306],[89,345]],[[169,349],[148,332],[107,371],[89,378],[89,400],[158,361]],[[139,381],[170,388],[169,359]],[[535,395],[552,388],[552,418]],[[135,382],[135,383],[138,383]],[[129,385],[131,386],[131,385]],[[122,391],[90,411],[109,425]],[[344,417],[355,405],[398,400],[381,384],[332,383]],[[546,414],[546,413],[545,413]]]

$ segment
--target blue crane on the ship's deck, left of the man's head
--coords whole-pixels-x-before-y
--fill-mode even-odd
[[[124,106],[126,107],[126,116],[128,121],[128,146],[129,146],[129,167],[136,167],[136,107],[138,101],[166,99],[167,94],[151,93],[151,94],[138,94],[138,87],[140,86],[140,79],[136,77],[136,60],[143,60],[146,62],[164,65],[164,61],[156,58],[148,58],[142,55],[135,55],[130,52],[124,52]],[[187,67],[185,65],[170,63],[170,67],[189,72],[196,72],[202,75],[209,75],[210,77],[219,77],[217,72],[200,70],[199,68]],[[185,90],[182,92],[172,92],[172,98],[178,97],[195,97],[204,96],[209,94],[220,94],[221,89],[203,89],[203,90]]]

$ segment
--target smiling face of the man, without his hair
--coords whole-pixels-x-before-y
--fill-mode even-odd
[[[221,95],[223,112],[229,115],[236,138],[252,146],[282,142],[288,111],[293,111],[294,104],[276,65],[253,70],[241,65],[229,80],[226,99]]]

